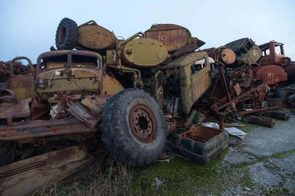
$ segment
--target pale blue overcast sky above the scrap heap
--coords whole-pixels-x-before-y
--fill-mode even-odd
[[[201,49],[244,37],[257,45],[275,40],[295,61],[295,0],[0,0],[0,7],[0,61],[36,63],[65,17],[78,25],[94,20],[125,39],[152,24],[177,24],[207,43]]]

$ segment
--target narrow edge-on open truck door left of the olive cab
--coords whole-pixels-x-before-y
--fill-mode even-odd
[[[154,97],[156,99],[156,102],[159,103],[159,106],[161,109],[163,109],[164,106],[164,84],[165,84],[165,79],[163,73],[159,70],[158,72],[155,73],[155,92],[154,92]]]

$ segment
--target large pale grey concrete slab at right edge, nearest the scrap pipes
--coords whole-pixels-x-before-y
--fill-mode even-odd
[[[274,128],[257,127],[245,135],[241,149],[259,158],[271,156],[295,149],[295,115],[289,122],[281,123]]]

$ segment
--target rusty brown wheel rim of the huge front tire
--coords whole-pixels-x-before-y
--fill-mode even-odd
[[[147,106],[135,105],[129,113],[129,124],[133,135],[143,143],[150,143],[157,135],[157,123]]]

